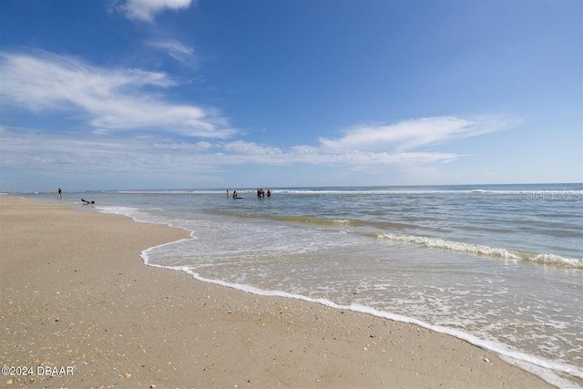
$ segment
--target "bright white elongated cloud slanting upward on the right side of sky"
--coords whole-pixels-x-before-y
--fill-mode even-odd
[[[366,125],[344,131],[337,139],[320,138],[327,148],[409,150],[460,138],[475,137],[505,128],[508,120],[498,117],[419,118],[392,125]]]

